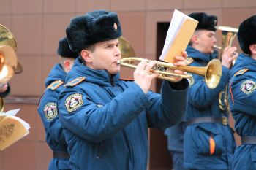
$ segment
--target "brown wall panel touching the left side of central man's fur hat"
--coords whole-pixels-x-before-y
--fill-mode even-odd
[[[66,36],[66,28],[75,14],[45,15],[43,18],[43,54],[56,54],[59,39]]]

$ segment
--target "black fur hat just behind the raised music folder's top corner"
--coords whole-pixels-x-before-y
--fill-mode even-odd
[[[206,29],[210,31],[216,31],[215,26],[217,26],[217,16],[207,15],[204,12],[194,12],[189,14],[189,17],[198,21],[197,28],[195,28],[195,30]]]

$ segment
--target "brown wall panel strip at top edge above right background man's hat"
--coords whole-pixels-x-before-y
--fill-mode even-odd
[[[184,0],[184,9],[212,9],[221,8],[222,0]]]

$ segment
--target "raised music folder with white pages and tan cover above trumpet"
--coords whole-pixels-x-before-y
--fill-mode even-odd
[[[159,60],[173,63],[174,56],[182,56],[181,52],[187,48],[197,24],[197,20],[175,9]]]

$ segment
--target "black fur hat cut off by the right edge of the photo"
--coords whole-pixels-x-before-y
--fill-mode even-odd
[[[256,44],[256,15],[252,15],[240,24],[237,36],[241,50],[249,54],[249,45]]]

